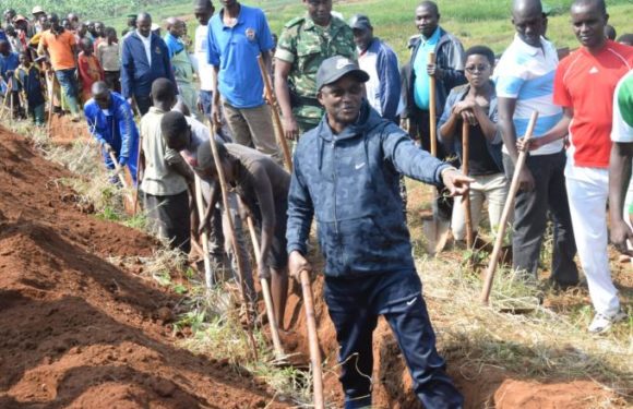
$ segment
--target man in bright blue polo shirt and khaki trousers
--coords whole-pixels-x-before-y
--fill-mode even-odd
[[[207,59],[216,72],[213,120],[219,123],[219,103],[237,143],[254,147],[279,161],[271,108],[263,97],[264,83],[258,64],[261,53],[271,65],[273,37],[260,9],[222,0],[224,8],[208,23]]]

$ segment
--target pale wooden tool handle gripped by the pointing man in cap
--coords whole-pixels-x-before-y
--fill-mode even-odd
[[[319,348],[319,334],[316,333],[316,317],[314,315],[314,300],[312,298],[310,273],[306,269],[302,270],[300,273],[300,278],[301,292],[303,293],[303,306],[306,309],[306,322],[308,324],[308,342],[310,344],[314,408],[325,409],[325,399],[323,398],[323,373],[321,371],[321,349]]]

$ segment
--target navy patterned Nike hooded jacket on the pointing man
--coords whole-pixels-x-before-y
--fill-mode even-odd
[[[326,117],[301,136],[288,195],[287,250],[307,253],[312,217],[329,276],[413,269],[399,175],[441,185],[447,165],[418,148],[363,103],[360,120],[333,134]]]

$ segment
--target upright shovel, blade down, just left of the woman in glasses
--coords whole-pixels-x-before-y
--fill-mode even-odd
[[[429,62],[435,62],[435,53],[429,52]],[[435,77],[429,77],[429,139],[431,144],[431,155],[438,157],[438,135],[435,122]],[[447,199],[440,195],[438,190],[433,193],[433,219],[425,220],[422,230],[427,238],[427,252],[435,255],[446,245],[449,231],[451,228],[452,205]]]

